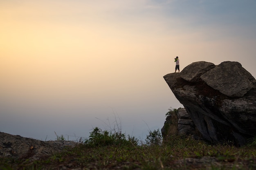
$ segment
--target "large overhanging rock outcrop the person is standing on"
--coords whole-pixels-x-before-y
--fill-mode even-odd
[[[164,76],[202,137],[242,146],[256,136],[256,80],[238,62],[194,62]]]

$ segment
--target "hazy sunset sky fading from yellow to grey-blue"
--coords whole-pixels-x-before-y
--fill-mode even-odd
[[[0,0],[0,132],[144,140],[183,107],[163,76],[240,62],[256,77],[256,0]]]

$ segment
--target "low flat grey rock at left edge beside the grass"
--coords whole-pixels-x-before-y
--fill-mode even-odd
[[[0,158],[37,160],[76,145],[74,141],[40,141],[0,132]]]

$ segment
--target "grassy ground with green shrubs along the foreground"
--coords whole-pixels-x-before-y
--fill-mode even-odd
[[[218,163],[185,161],[210,157]],[[1,170],[254,170],[256,144],[240,148],[209,145],[204,141],[173,135],[165,144],[138,144],[134,137],[94,128],[89,139],[37,161],[1,159]]]

